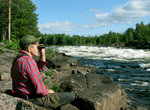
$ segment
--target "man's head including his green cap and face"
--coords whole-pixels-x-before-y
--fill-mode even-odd
[[[26,50],[32,57],[38,56],[39,38],[31,35],[23,36],[20,39],[20,48]]]

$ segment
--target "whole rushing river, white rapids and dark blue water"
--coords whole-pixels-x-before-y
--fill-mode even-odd
[[[92,46],[53,48],[113,77],[115,83],[124,87],[131,106],[150,108],[150,50]]]

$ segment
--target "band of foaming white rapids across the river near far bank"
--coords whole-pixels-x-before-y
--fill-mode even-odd
[[[83,57],[87,59],[120,60],[120,61],[145,61],[141,67],[150,68],[150,51],[137,49],[121,49],[114,47],[93,47],[93,46],[63,46],[55,47],[56,51],[65,53],[74,57]],[[150,69],[148,69],[150,70]]]

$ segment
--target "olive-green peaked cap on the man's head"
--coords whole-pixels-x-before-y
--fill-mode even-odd
[[[32,36],[32,35],[23,36],[20,39],[20,48],[22,50],[26,50],[30,44],[35,44],[39,40],[40,40],[40,38],[36,38],[35,36]]]

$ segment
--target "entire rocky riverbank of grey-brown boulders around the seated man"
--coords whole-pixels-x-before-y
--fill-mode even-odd
[[[10,68],[15,55],[14,51],[8,49],[0,53],[0,109],[44,110],[43,107],[3,93],[12,89]],[[130,110],[124,89],[113,83],[111,77],[101,75],[94,68],[81,65],[65,54],[57,53],[47,60],[47,67],[42,72],[44,82],[49,81],[49,87],[57,83],[60,85],[58,92],[69,91],[77,96],[74,102],[62,106],[61,110]],[[48,71],[52,72],[51,77],[46,75]]]

